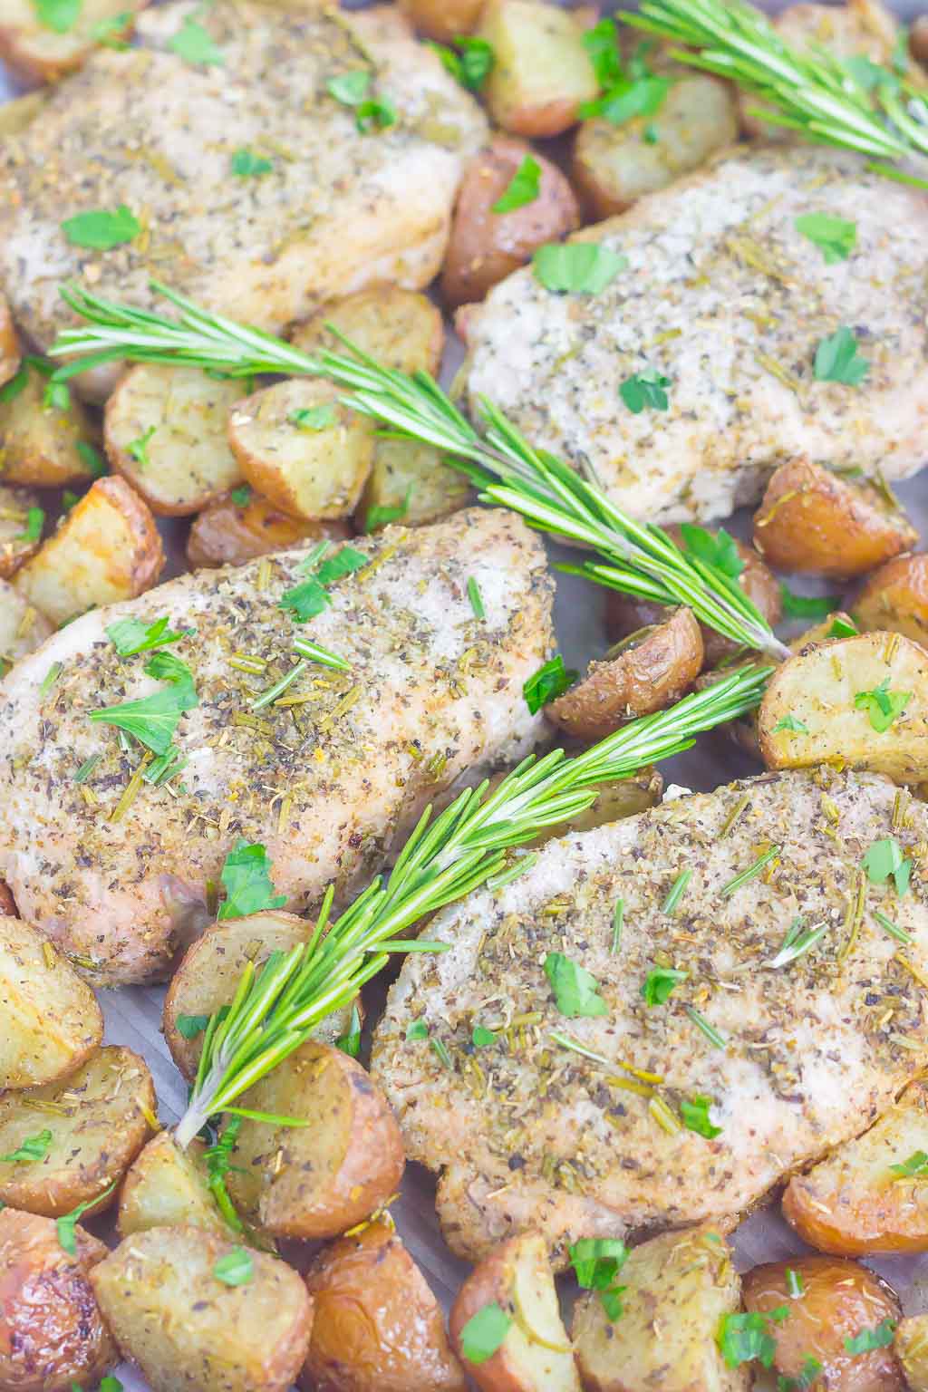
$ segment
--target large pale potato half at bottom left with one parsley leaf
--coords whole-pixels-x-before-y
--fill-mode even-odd
[[[223,1264],[250,1275],[228,1285]],[[285,1392],[306,1357],[313,1307],[296,1272],[202,1228],[134,1232],[90,1282],[152,1392]]]

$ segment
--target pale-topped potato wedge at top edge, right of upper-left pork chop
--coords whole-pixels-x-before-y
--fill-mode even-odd
[[[561,135],[598,84],[583,29],[566,11],[537,0],[487,0],[477,33],[495,54],[483,89],[497,125],[513,135]]]

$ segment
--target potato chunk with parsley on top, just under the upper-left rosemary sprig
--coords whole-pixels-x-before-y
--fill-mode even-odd
[[[374,458],[374,426],[339,405],[339,388],[305,377],[239,401],[228,441],[259,493],[295,518],[346,518]]]

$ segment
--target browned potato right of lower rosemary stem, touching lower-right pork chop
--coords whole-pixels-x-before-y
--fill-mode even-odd
[[[228,1192],[275,1237],[335,1237],[395,1193],[405,1155],[399,1126],[360,1063],[310,1040],[250,1087],[241,1107],[309,1126],[246,1118],[232,1150]]]

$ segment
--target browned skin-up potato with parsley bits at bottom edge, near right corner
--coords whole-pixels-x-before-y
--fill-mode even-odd
[[[787,1271],[796,1274],[801,1295],[790,1295]],[[801,1377],[807,1359],[815,1359],[821,1364],[819,1385],[828,1392],[904,1392],[892,1350],[899,1303],[867,1267],[839,1257],[772,1261],[747,1272],[742,1295],[749,1311],[789,1311],[767,1325],[776,1345],[774,1368],[781,1377]],[[882,1345],[864,1353],[847,1349],[847,1339],[867,1332]]]

